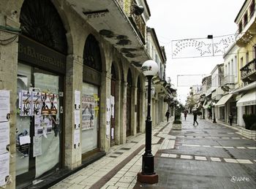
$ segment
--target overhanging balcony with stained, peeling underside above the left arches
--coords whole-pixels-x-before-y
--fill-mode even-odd
[[[140,18],[135,18],[137,19],[135,23],[140,27],[138,29],[133,26],[127,15],[129,13],[130,17],[135,17],[134,11],[132,12],[132,0],[102,0],[97,3],[95,0],[65,0],[64,2],[137,69],[140,69],[141,64],[148,60],[149,56],[144,47],[145,41],[141,37],[143,34],[138,33],[138,30],[142,30],[140,26],[142,24],[139,24]],[[145,5],[146,0],[141,3],[145,8],[143,16],[148,19],[150,13]],[[129,11],[126,12],[128,9]]]

